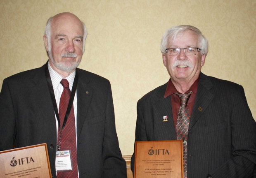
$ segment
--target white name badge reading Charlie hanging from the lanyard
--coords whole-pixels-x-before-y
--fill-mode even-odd
[[[56,152],[56,171],[73,171],[70,150]]]

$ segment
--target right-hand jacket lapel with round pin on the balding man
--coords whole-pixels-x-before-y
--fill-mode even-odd
[[[78,72],[78,84],[76,88],[77,94],[77,136],[79,137],[83,124],[85,122],[86,115],[92,99],[93,88],[88,85],[90,80],[83,74],[80,69]]]

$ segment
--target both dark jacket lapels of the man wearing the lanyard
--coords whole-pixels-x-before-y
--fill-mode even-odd
[[[79,75],[80,69],[77,69],[78,72],[78,84],[76,88],[77,93],[77,135],[79,136],[85,117],[87,115],[90,101],[92,99],[93,88],[88,86],[90,80],[84,76]],[[45,118],[45,122],[52,127],[50,130],[53,135],[56,135],[56,121],[55,121],[55,111],[53,109],[52,100],[50,97],[50,92],[47,86],[47,81],[45,78],[45,65],[39,68],[39,71],[35,74],[32,79],[31,91],[34,96],[36,103],[39,105],[42,114]],[[54,118],[54,119],[53,119]]]

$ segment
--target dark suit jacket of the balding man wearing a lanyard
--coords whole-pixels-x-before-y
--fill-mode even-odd
[[[77,69],[77,161],[80,178],[126,178],[107,79]],[[52,176],[57,145],[55,112],[45,65],[8,77],[0,93],[0,150],[47,143]]]

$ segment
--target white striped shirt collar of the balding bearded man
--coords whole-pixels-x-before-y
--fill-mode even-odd
[[[53,90],[55,90],[59,85],[61,85],[60,81],[62,81],[62,79],[67,79],[67,81],[69,82],[69,89],[72,90],[73,82],[76,76],[76,70],[69,74],[69,76],[67,76],[66,78],[63,78],[54,69],[52,69],[50,62],[48,62],[48,69],[52,80]]]

